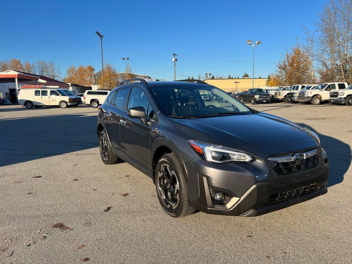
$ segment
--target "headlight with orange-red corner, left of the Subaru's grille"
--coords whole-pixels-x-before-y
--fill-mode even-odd
[[[189,145],[192,149],[206,161],[215,163],[226,162],[250,162],[253,160],[252,156],[244,152],[222,147],[218,145],[211,145],[199,141],[190,140]]]

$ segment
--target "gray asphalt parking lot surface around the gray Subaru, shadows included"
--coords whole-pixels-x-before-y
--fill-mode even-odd
[[[351,263],[352,107],[248,105],[319,134],[327,194],[253,218],[173,219],[149,177],[102,163],[97,109],[1,106],[0,263]]]

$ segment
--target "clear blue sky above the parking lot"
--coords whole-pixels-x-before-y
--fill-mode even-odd
[[[54,61],[63,75],[69,65],[101,68],[103,56],[120,71],[130,57],[135,73],[173,80],[198,73],[252,76],[274,72],[280,50],[314,30],[322,1],[5,1],[0,24],[0,60]],[[226,62],[237,61],[237,62]],[[169,68],[171,67],[171,68]],[[164,70],[169,68],[167,70]]]

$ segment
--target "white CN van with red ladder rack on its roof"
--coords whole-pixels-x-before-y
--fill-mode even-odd
[[[46,88],[41,85],[21,86],[18,92],[18,103],[26,108],[40,106],[67,106],[77,105],[80,101],[74,96],[67,95],[60,89]]]

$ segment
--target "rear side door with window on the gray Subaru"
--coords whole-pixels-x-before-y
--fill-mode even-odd
[[[106,132],[108,134],[111,146],[119,151],[121,151],[121,115],[126,112],[126,102],[128,95],[130,94],[130,90],[131,87],[124,87],[117,90],[113,94],[110,102],[106,104],[106,117],[104,118]]]

